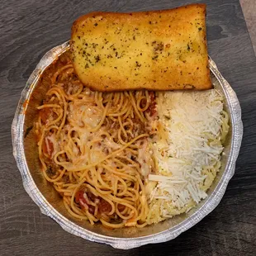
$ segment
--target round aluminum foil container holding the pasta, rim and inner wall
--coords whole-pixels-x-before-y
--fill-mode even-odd
[[[241,109],[235,92],[222,77],[213,60],[209,58],[212,83],[217,90],[225,95],[225,110],[230,114],[230,132],[225,141],[225,154],[221,159],[222,167],[207,192],[208,197],[187,214],[175,216],[156,225],[149,225],[142,229],[130,227],[109,230],[100,224],[90,225],[88,221],[76,220],[69,215],[61,197],[51,184],[45,181],[40,171],[35,132],[31,129],[31,132],[26,134],[27,128],[30,129],[34,124],[36,107],[40,105],[46,92],[46,88],[36,86],[40,74],[67,49],[69,49],[69,41],[50,50],[40,60],[21,93],[21,99],[12,122],[13,154],[26,192],[40,207],[43,214],[50,216],[69,233],[90,241],[110,244],[118,249],[131,249],[144,244],[161,243],[176,238],[197,224],[219,204],[230,178],[235,173],[235,161],[239,154],[243,135]]]

